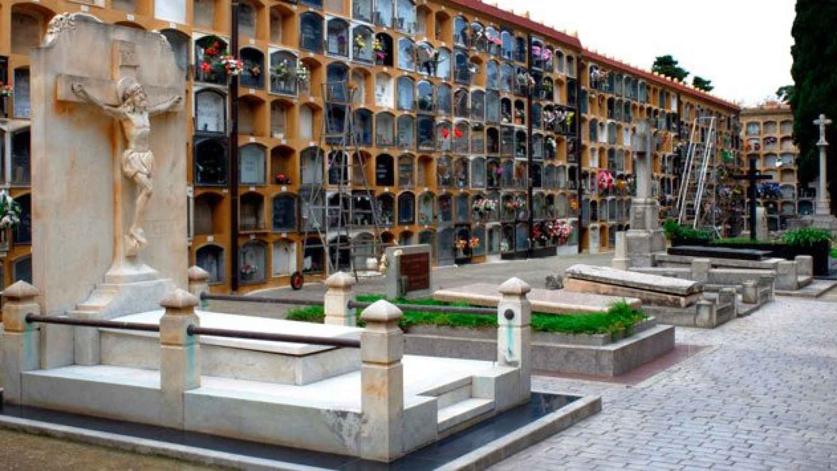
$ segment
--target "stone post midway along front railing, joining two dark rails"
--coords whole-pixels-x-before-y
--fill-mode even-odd
[[[200,341],[189,335],[189,325],[198,327],[198,298],[176,289],[160,301],[166,314],[160,319],[160,388],[163,424],[182,428],[185,422],[185,392],[201,386]]]

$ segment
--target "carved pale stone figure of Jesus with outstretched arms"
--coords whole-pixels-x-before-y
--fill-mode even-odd
[[[136,257],[141,248],[144,248],[148,241],[145,233],[140,227],[140,221],[145,213],[146,205],[151,199],[151,173],[154,172],[154,154],[149,148],[151,137],[151,122],[149,117],[159,115],[171,110],[182,100],[182,96],[173,96],[169,100],[157,105],[148,105],[148,99],[142,85],[133,77],[124,77],[117,84],[117,94],[121,105],[105,105],[100,100],[87,92],[82,84],[73,84],[72,90],[81,100],[94,105],[120,121],[122,131],[125,133],[128,145],[122,153],[122,175],[134,182],[139,191],[136,197],[134,218],[131,228],[125,235],[126,255]]]

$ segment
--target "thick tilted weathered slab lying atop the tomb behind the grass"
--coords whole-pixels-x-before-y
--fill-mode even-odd
[[[696,294],[703,290],[703,285],[694,281],[583,264],[573,265],[564,272],[564,275],[565,278],[586,279],[678,296]]]

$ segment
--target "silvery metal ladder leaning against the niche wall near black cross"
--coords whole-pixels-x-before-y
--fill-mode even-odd
[[[709,120],[709,131],[705,139],[701,139],[699,124]],[[683,181],[677,197],[675,210],[678,213],[677,223],[691,225],[692,228],[702,226],[706,218],[706,211],[701,204],[705,199],[711,199],[711,192],[715,191],[713,183],[707,178],[710,174],[709,166],[714,165],[716,118],[714,116],[695,118],[691,127]]]

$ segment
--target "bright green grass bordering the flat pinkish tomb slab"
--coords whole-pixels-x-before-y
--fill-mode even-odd
[[[377,294],[359,294],[357,300],[362,303],[373,303],[384,299]],[[447,303],[435,299],[394,299],[394,304],[434,305],[465,307],[467,303]],[[357,326],[364,325],[360,319],[361,310],[357,310]],[[536,332],[556,332],[562,334],[610,334],[614,335],[623,330],[629,330],[640,320],[648,316],[641,311],[633,310],[627,303],[614,304],[607,312],[593,314],[564,314],[554,315],[534,312],[531,315],[531,327]],[[288,320],[314,322],[322,324],[326,319],[324,310],[320,306],[308,306],[290,310]],[[419,312],[404,311],[398,321],[398,327],[408,332],[413,325],[439,325],[447,327],[464,327],[480,329],[483,327],[497,327],[496,315],[454,314],[447,312]]]

